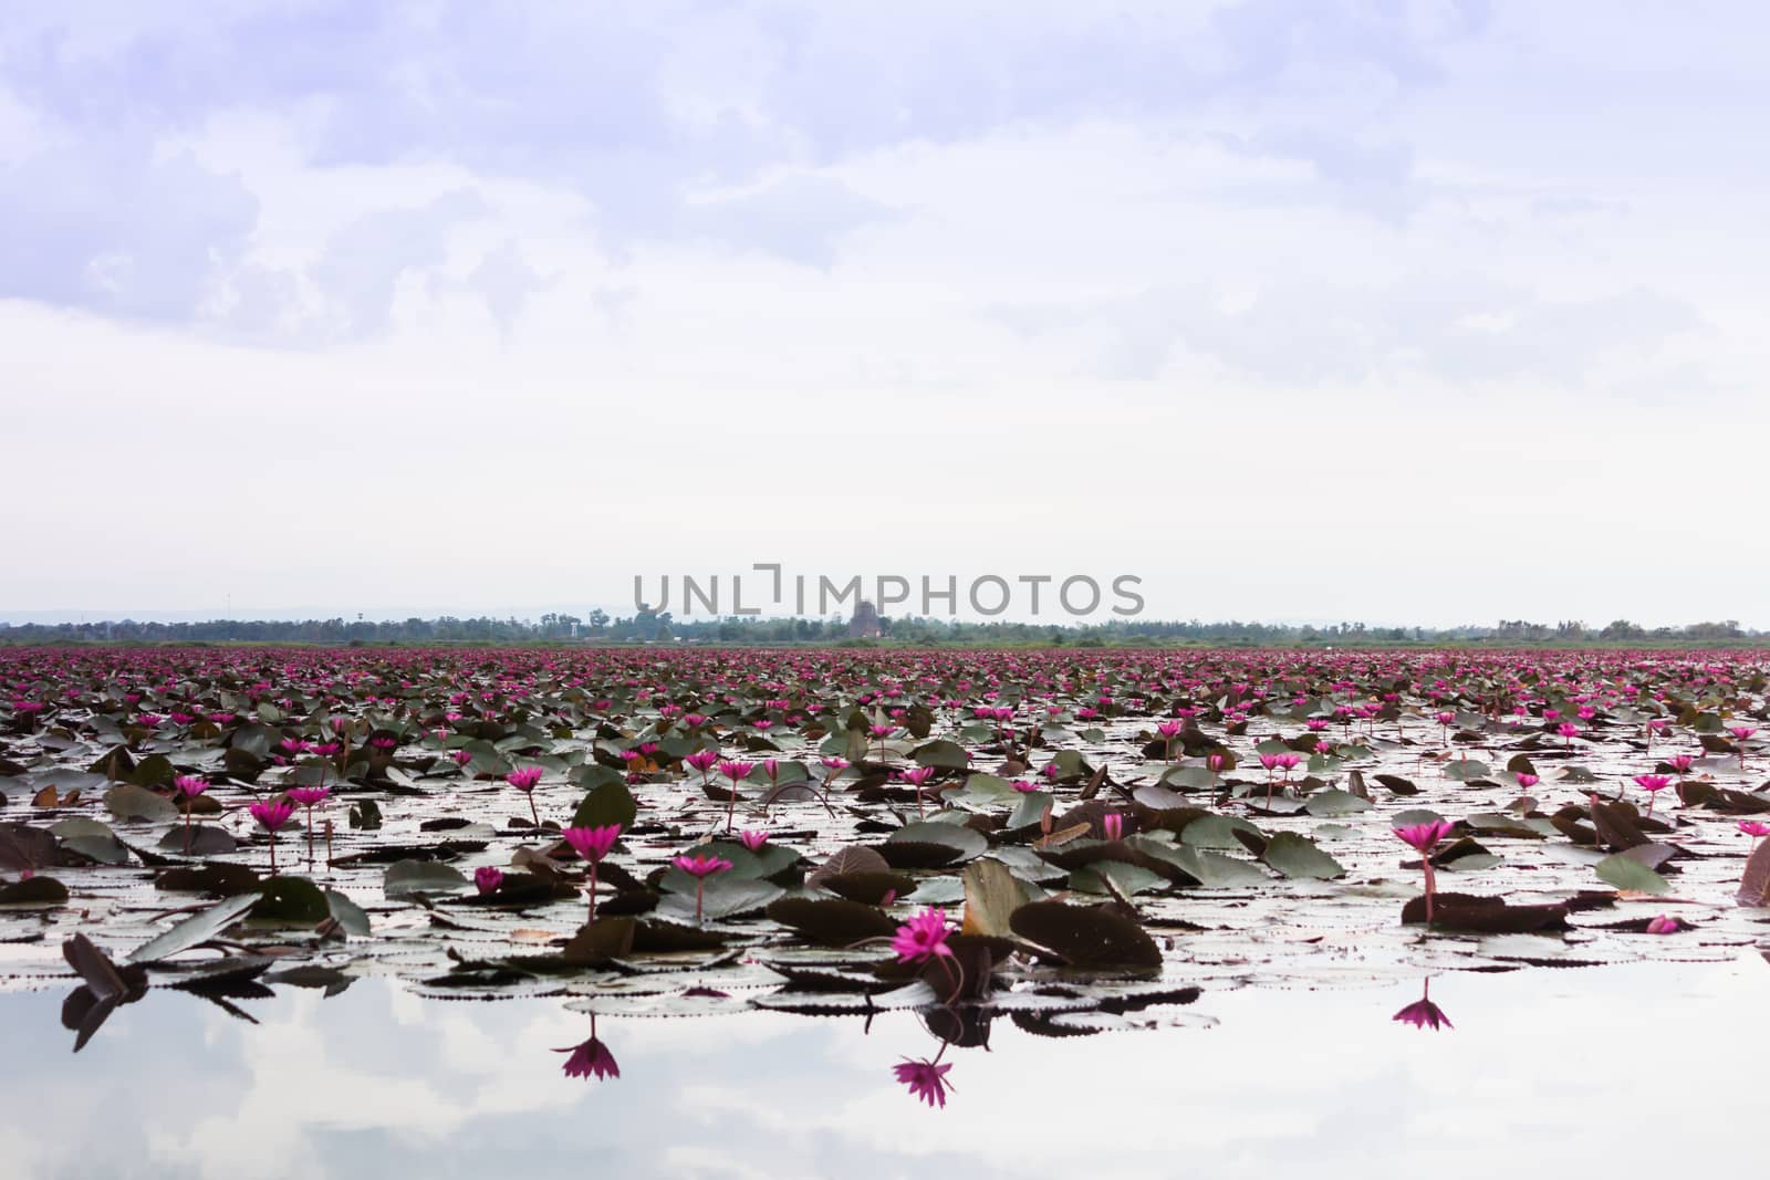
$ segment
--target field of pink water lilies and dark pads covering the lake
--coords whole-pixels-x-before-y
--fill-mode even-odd
[[[1761,653],[9,649],[0,977],[945,1046],[1766,939]],[[78,977],[78,978],[76,978]],[[1397,1014],[1439,1028],[1425,994]],[[568,1074],[618,1072],[595,1037]],[[940,1054],[897,1081],[945,1104]]]

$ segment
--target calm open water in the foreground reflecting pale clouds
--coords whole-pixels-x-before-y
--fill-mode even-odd
[[[0,1175],[1605,1176],[1758,1171],[1770,964],[1450,973],[1207,991],[1193,1026],[947,1047],[910,1012],[598,1017],[620,1077],[568,1077],[556,1000],[280,987],[260,1023],[152,991],[76,1056],[60,991],[0,996]],[[1214,1021],[1214,1023],[1212,1023]]]

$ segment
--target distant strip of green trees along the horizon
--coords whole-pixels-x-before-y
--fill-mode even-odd
[[[1627,619],[1588,628],[1579,621],[1526,623],[1503,619],[1494,626],[1285,626],[1273,623],[1200,623],[1112,619],[1106,623],[963,623],[956,619],[880,617],[880,639],[889,644],[927,646],[1083,646],[1145,644],[1212,646],[1326,646],[1326,644],[1756,644],[1763,632],[1747,632],[1733,619],[1689,626],[1643,628]],[[540,619],[209,619],[205,623],[0,623],[0,642],[267,642],[267,644],[520,644],[520,642],[701,642],[701,644],[871,644],[850,635],[850,623],[828,619],[676,619],[667,610],[641,610],[611,617],[591,610],[584,617],[543,614]]]

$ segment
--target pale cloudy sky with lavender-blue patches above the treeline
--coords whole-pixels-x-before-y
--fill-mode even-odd
[[[781,563],[961,614],[1133,575],[1145,617],[1770,626],[1766,37],[9,5],[0,619],[620,614]]]

